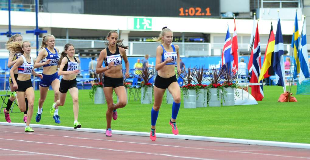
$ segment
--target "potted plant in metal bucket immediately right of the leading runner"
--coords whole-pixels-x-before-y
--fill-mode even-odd
[[[196,108],[196,86],[192,84],[196,69],[197,67],[195,66],[193,71],[191,71],[191,66],[189,66],[187,72],[179,75],[184,81],[184,86],[181,87],[184,108]]]

